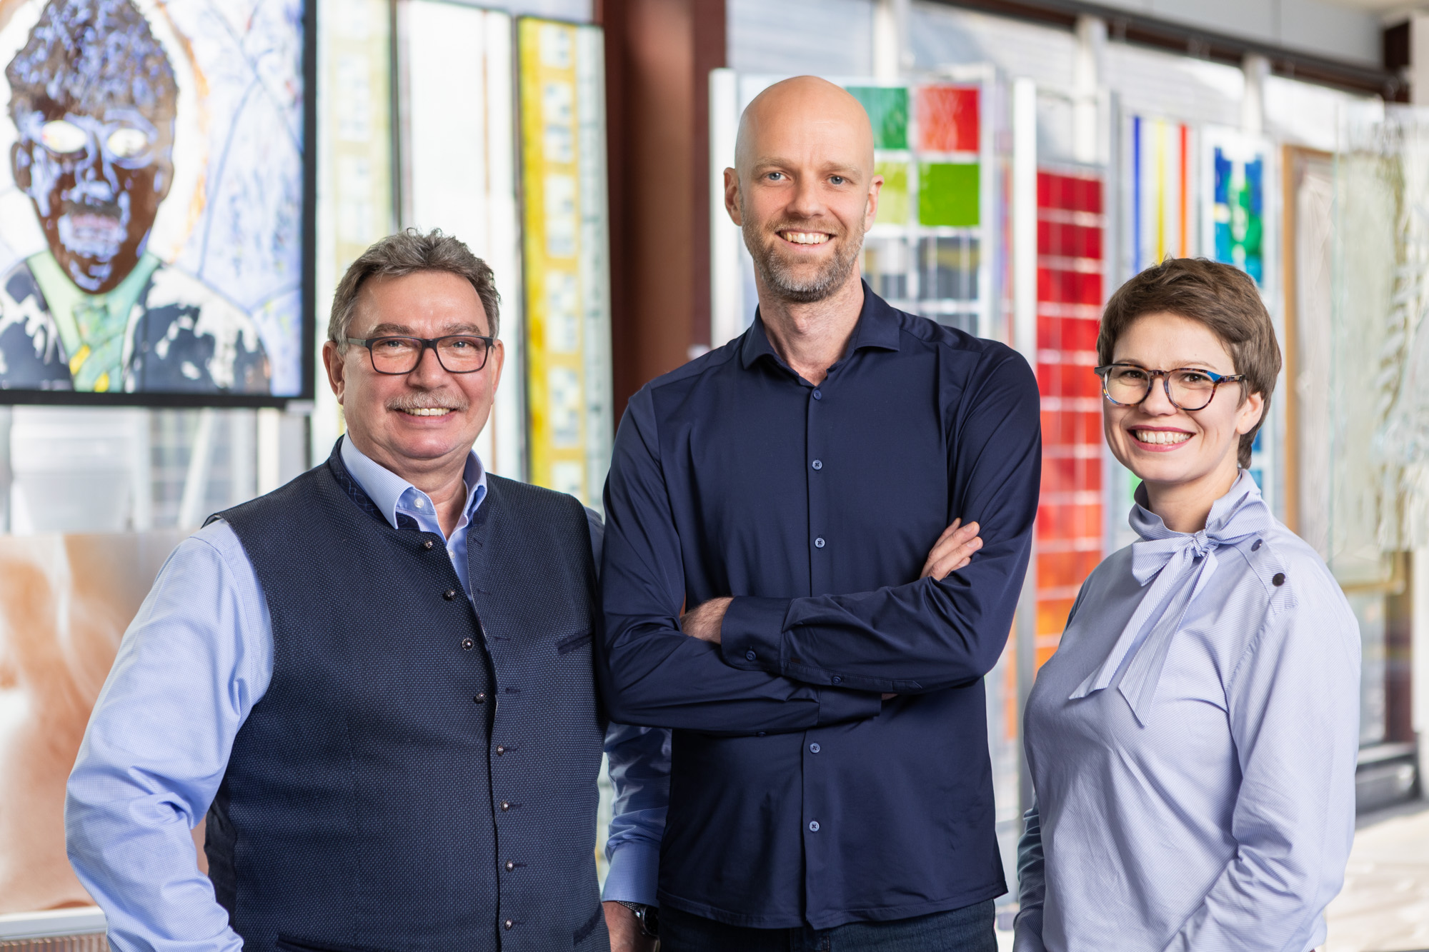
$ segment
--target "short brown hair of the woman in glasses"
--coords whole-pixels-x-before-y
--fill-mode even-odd
[[[1096,362],[1112,363],[1116,340],[1137,317],[1172,313],[1195,320],[1226,346],[1235,372],[1246,376],[1240,399],[1265,397],[1260,420],[1240,436],[1240,466],[1250,465],[1250,445],[1270,412],[1270,395],[1280,375],[1280,344],[1260,292],[1245,272],[1203,257],[1167,257],[1116,289],[1102,312],[1096,336]],[[1162,367],[1170,370],[1172,367]]]

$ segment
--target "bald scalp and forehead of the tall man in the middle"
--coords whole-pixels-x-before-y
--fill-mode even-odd
[[[846,89],[817,76],[775,83],[749,104],[735,142],[739,177],[747,180],[762,160],[783,159],[790,144],[802,152],[822,149],[823,159],[853,162],[865,176],[873,174],[869,114]]]

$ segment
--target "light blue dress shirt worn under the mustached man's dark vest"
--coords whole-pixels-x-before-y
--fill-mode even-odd
[[[342,459],[394,527],[442,533],[432,499],[343,439]],[[470,598],[466,532],[486,499],[467,459],[466,506],[447,555]],[[589,512],[589,510],[587,510]],[[596,565],[602,525],[589,513]],[[90,716],[69,780],[70,862],[109,919],[117,952],[236,952],[242,939],[199,872],[190,829],[223,780],[233,739],[273,675],[273,626],[233,529],[214,522],[174,549],[134,618]],[[616,790],[606,899],[654,905],[669,800],[667,730],[610,725]]]

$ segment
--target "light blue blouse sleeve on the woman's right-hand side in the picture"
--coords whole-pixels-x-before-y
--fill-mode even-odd
[[[1359,630],[1335,580],[1292,569],[1232,676],[1236,852],[1172,952],[1302,949],[1345,879],[1355,838]],[[1309,740],[1313,739],[1313,740]]]

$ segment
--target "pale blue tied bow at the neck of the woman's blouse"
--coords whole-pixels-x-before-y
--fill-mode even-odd
[[[1130,525],[1140,540],[1132,543],[1132,575],[1142,586],[1150,583],[1150,589],[1142,596],[1110,653],[1077,685],[1070,699],[1110,686],[1125,666],[1120,692],[1145,726],[1172,636],[1216,572],[1216,549],[1263,536],[1270,530],[1272,519],[1259,487],[1246,472],[1240,473],[1229,493],[1216,500],[1206,527],[1193,535],[1167,529],[1160,516],[1146,509],[1143,489],[1137,489],[1136,497]],[[1089,605],[1077,610],[1095,609]]]

